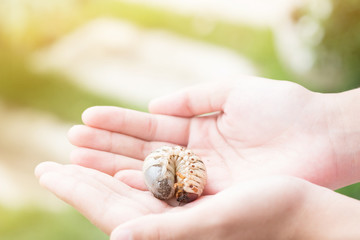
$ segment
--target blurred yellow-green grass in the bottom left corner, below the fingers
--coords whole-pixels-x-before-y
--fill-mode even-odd
[[[37,207],[10,210],[0,207],[3,240],[101,240],[108,239],[77,211],[48,212]]]

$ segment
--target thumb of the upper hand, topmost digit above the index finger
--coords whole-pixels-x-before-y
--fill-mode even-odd
[[[149,111],[181,117],[222,111],[232,88],[230,82],[197,85],[151,101]]]

